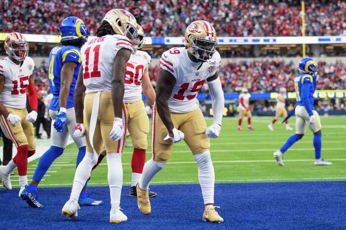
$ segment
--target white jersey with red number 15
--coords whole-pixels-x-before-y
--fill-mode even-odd
[[[34,67],[34,60],[30,57],[26,57],[21,66],[12,62],[8,57],[0,59],[0,75],[5,77],[0,101],[5,107],[16,109],[26,107],[26,88]]]

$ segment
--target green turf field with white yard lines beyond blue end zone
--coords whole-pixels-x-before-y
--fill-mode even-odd
[[[306,131],[285,153],[285,166],[276,165],[273,152],[280,148],[294,131],[285,131],[285,126],[277,122],[275,131],[267,129],[271,117],[255,117],[255,131],[237,131],[237,119],[223,119],[221,134],[211,140],[211,153],[216,172],[216,183],[236,182],[277,182],[277,181],[316,181],[346,180],[346,117],[321,117],[322,120],[322,157],[333,163],[332,166],[315,166],[312,134]],[[208,125],[212,119],[207,119]],[[295,118],[290,119],[294,127]],[[130,138],[128,140],[130,142]],[[150,142],[150,135],[149,135]],[[132,148],[125,148],[123,154],[124,184],[131,180]],[[43,177],[41,187],[70,187],[72,185],[77,148],[68,146]],[[147,159],[151,149],[147,151]],[[38,160],[28,166],[28,178],[33,175]],[[13,178],[12,179],[17,179]],[[170,162],[158,173],[152,184],[191,184],[198,183],[197,164],[184,142],[174,144]],[[16,182],[13,183],[15,185]],[[90,186],[107,185],[106,158],[91,175]]]

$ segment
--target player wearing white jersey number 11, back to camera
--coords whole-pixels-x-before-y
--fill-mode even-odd
[[[77,124],[74,136],[86,135],[87,151],[76,169],[70,199],[61,211],[62,215],[72,219],[77,217],[81,190],[104,149],[111,197],[109,222],[120,223],[128,219],[120,210],[123,184],[121,153],[126,133],[123,97],[125,67],[134,51],[132,42],[137,36],[136,28],[136,19],[130,12],[112,9],[97,29],[97,37],[81,48],[82,66],[75,90]]]

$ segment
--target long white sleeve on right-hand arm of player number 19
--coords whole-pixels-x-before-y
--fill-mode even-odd
[[[214,114],[214,123],[221,125],[223,108],[224,108],[224,96],[221,86],[221,81],[216,78],[213,81],[207,81],[210,94],[212,95],[212,107]]]

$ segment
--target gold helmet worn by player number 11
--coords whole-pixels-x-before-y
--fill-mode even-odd
[[[111,9],[102,21],[107,21],[112,26],[114,33],[126,36],[132,41],[137,36],[137,21],[125,9]]]

